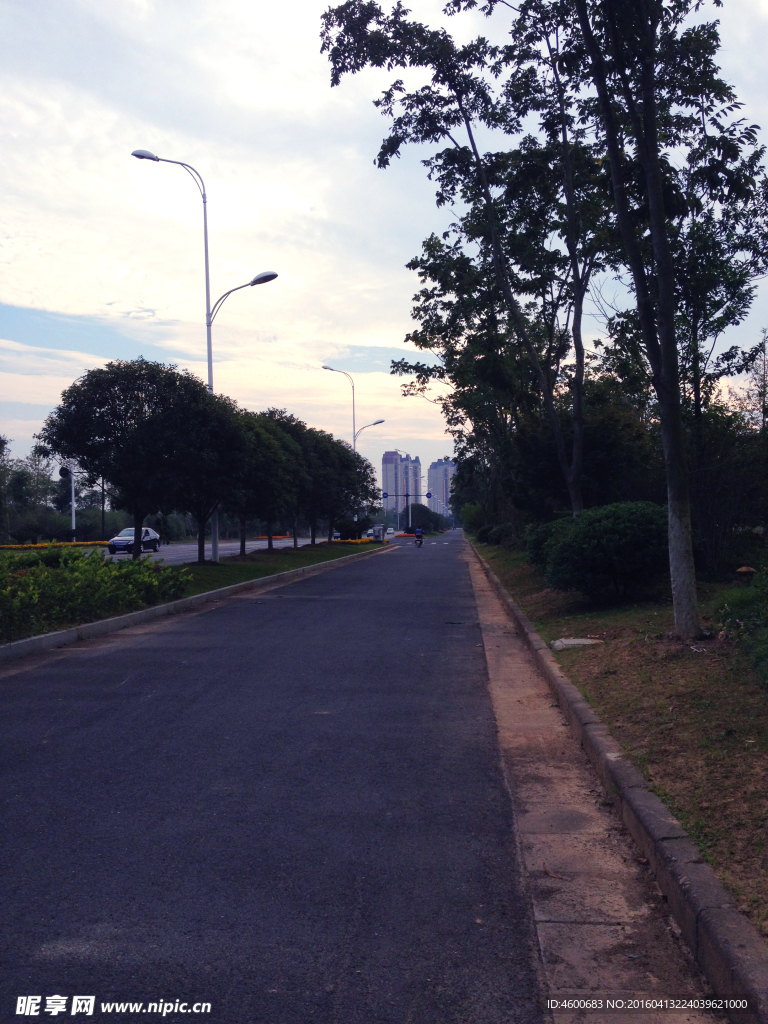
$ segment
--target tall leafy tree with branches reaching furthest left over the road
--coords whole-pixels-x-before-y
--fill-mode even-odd
[[[387,14],[369,0],[348,0],[323,19],[333,85],[367,65],[428,72],[427,86],[408,91],[396,80],[377,101],[391,122],[378,164],[386,167],[407,142],[447,141],[450,147],[425,164],[437,182],[438,205],[460,201],[466,210],[443,237],[452,238],[451,245],[432,237],[424,257],[409,264],[433,286],[418,296],[415,315],[422,327],[409,340],[447,358],[432,374],[407,360],[395,372],[421,371],[422,382],[439,376],[456,386],[456,351],[467,344],[460,326],[475,350],[481,341],[489,355],[504,360],[505,350],[520,349],[527,367],[522,379],[540,396],[575,514],[584,505],[584,303],[610,248],[601,154],[573,117],[556,24],[528,18],[525,32],[513,34],[503,48],[481,38],[460,46],[444,30],[430,30],[408,14],[399,2]],[[493,79],[503,68],[513,71],[504,89],[495,90]],[[526,117],[534,113],[539,138],[528,132]],[[480,126],[515,136],[517,145],[482,155]],[[472,289],[479,302],[472,303]],[[478,331],[482,307],[485,324]],[[462,383],[471,397],[466,376]],[[502,376],[497,389],[503,392],[504,384]],[[569,443],[557,397],[563,385],[570,395]],[[502,408],[514,408],[518,397],[511,394]],[[449,403],[449,415],[461,410],[461,395],[454,392]]]

